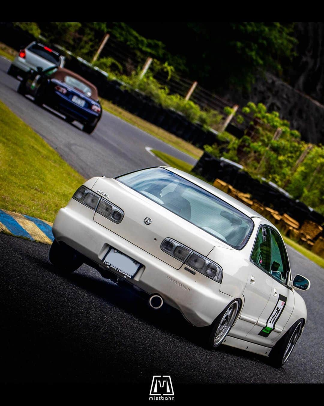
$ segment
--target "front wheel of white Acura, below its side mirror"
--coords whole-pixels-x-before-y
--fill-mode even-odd
[[[280,368],[286,363],[303,332],[304,319],[297,320],[286,334],[275,344],[269,354],[269,363]]]

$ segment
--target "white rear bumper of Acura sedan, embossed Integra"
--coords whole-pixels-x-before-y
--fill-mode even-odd
[[[147,294],[158,293],[164,301],[179,309],[195,326],[208,326],[233,298],[220,292],[220,284],[196,272],[192,275],[182,266],[175,269],[143,249],[93,221],[94,212],[71,199],[58,212],[53,224],[53,235],[104,267],[102,259],[109,246],[143,264],[131,284]],[[110,269],[111,270],[111,269]],[[119,277],[119,272],[111,270]]]

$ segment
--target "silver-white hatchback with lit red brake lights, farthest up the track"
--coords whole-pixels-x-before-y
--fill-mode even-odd
[[[36,71],[40,67],[45,70],[53,66],[62,68],[64,63],[64,56],[39,42],[33,41],[19,51],[7,73],[14,77],[25,78],[30,69]]]

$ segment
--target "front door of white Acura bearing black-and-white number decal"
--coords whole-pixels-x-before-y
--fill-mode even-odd
[[[286,247],[279,233],[273,228],[271,232],[271,268],[273,291],[269,301],[260,315],[258,325],[247,334],[248,341],[272,346],[288,322],[294,309],[294,294],[287,286],[290,274]]]

